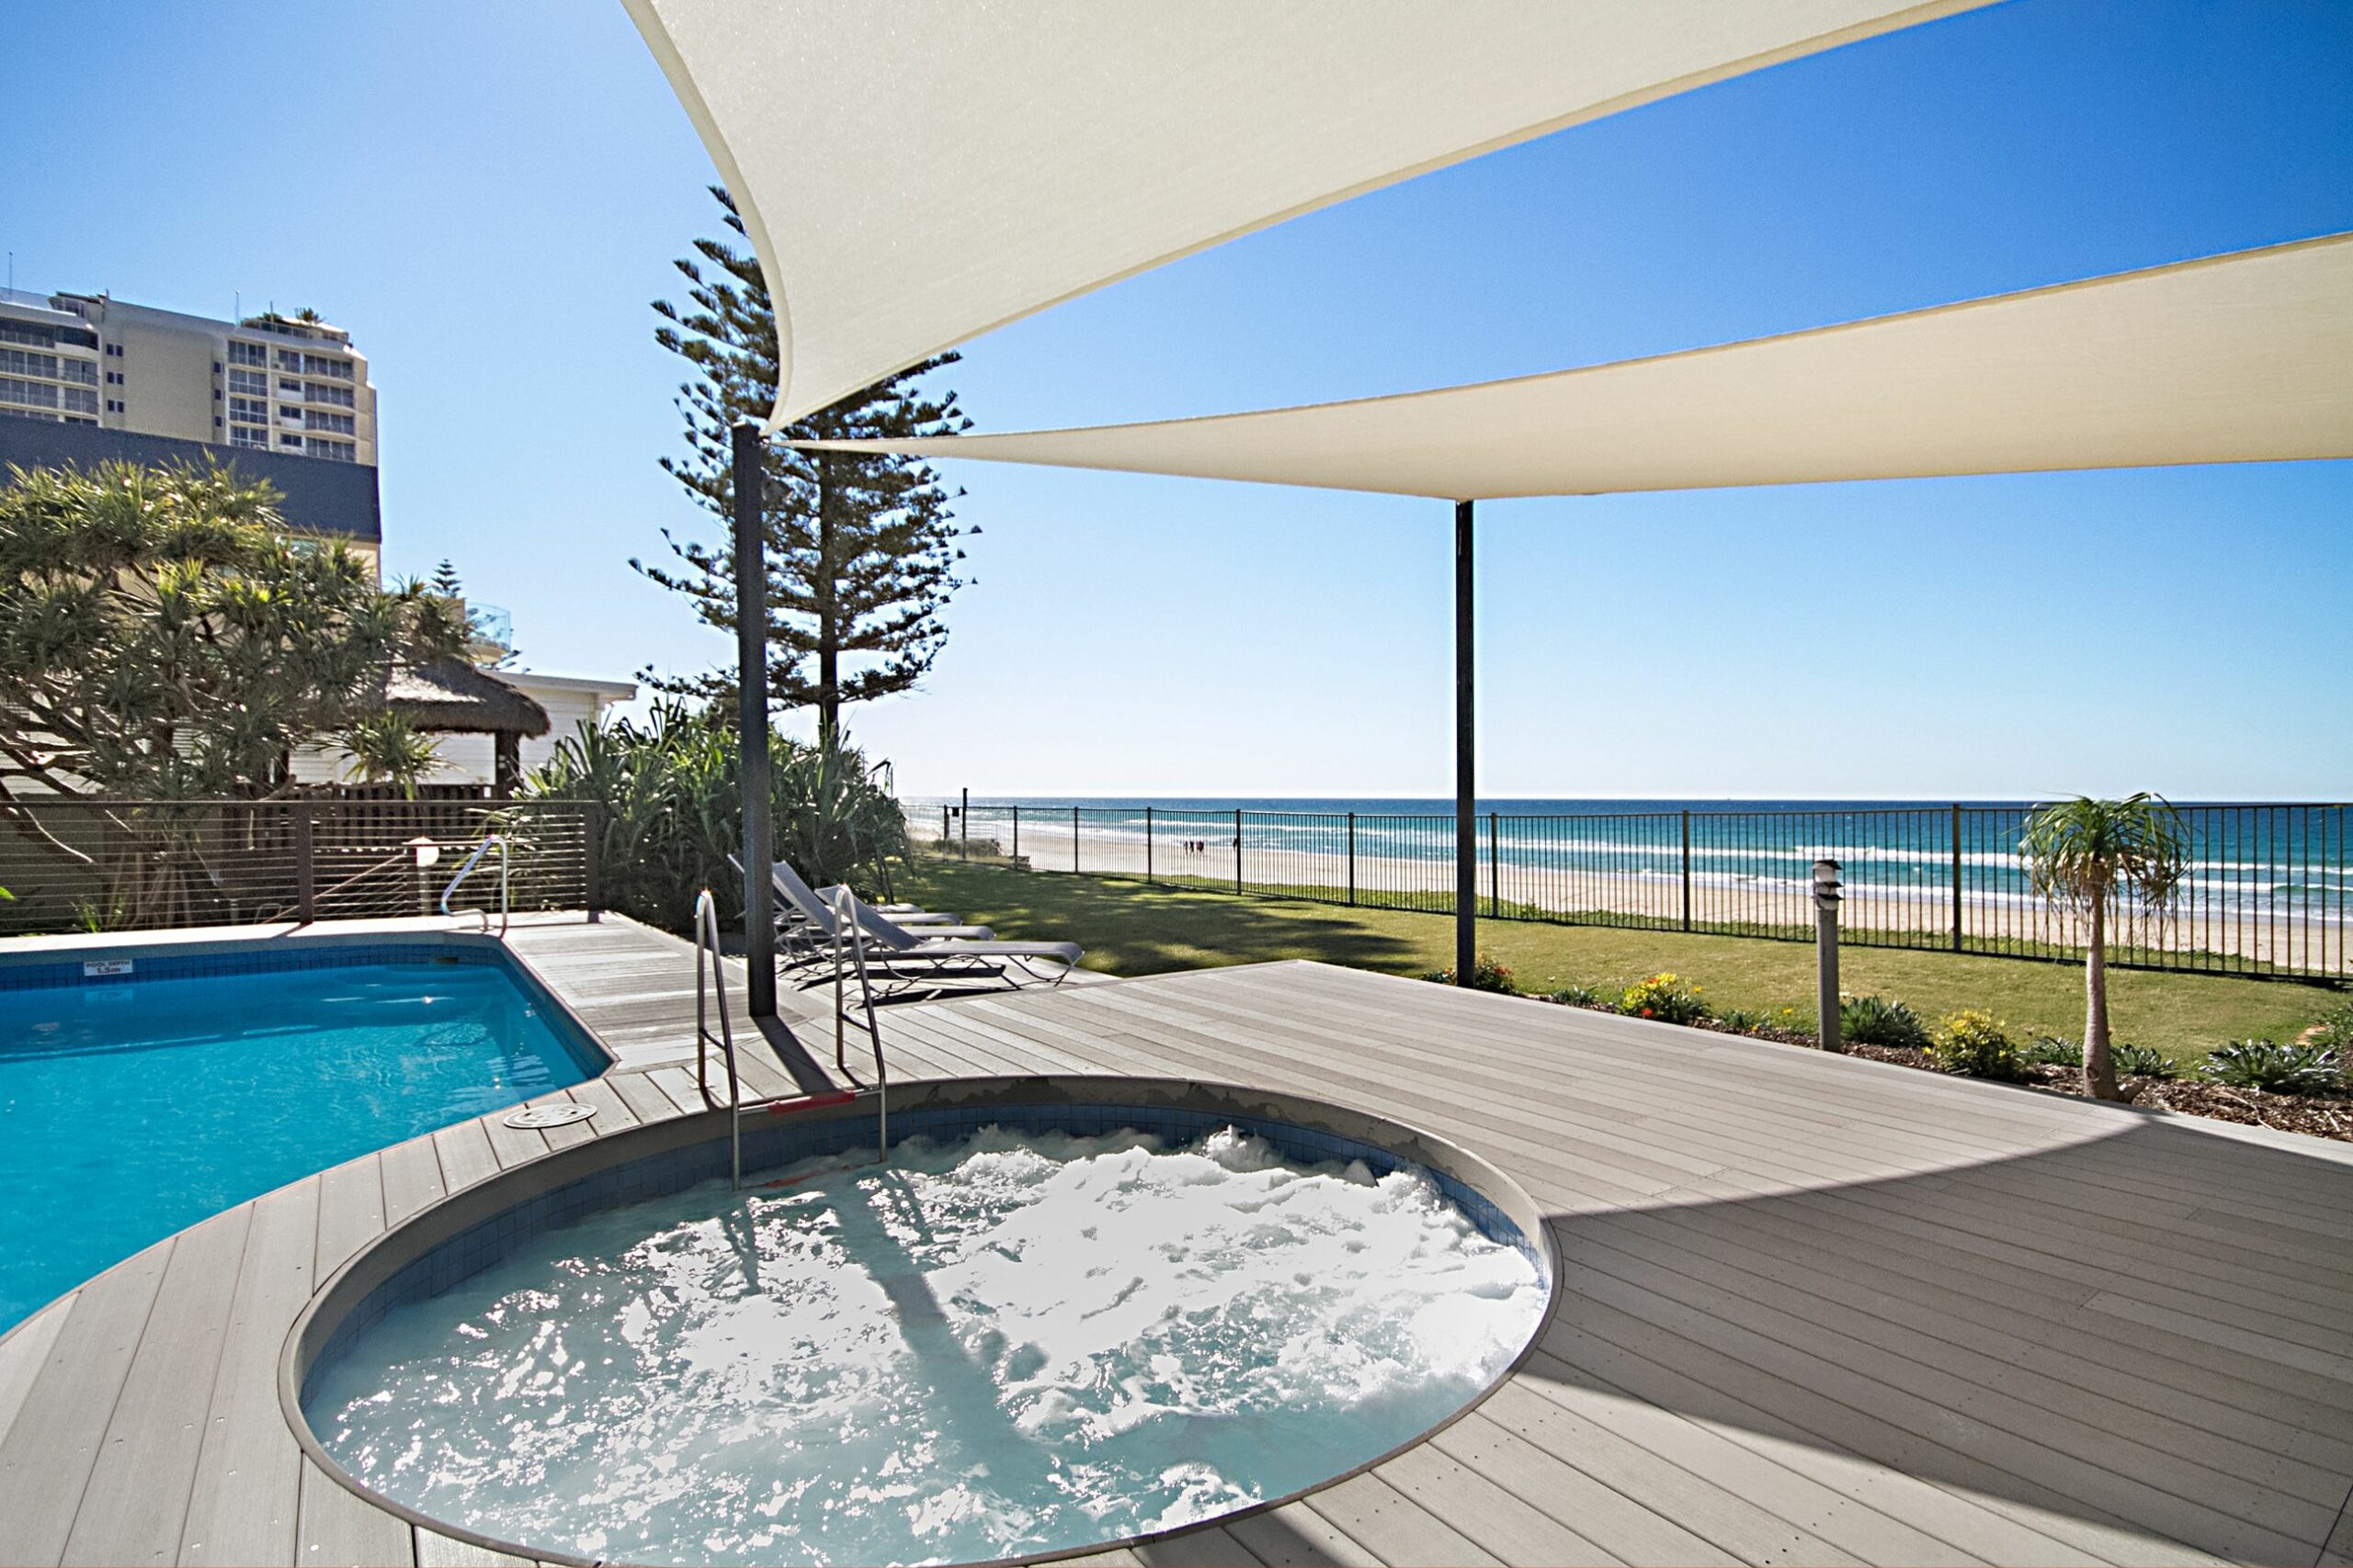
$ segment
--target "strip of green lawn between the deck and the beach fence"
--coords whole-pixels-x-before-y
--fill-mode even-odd
[[[1322,959],[1400,976],[1454,961],[1454,926],[1442,914],[1351,910],[1285,898],[1235,898],[1115,877],[1016,872],[993,865],[920,860],[908,898],[955,910],[1007,938],[1071,938],[1087,969],[1148,976],[1167,969]],[[1798,1009],[1814,1018],[1814,950],[1741,936],[1682,936],[1612,926],[1480,922],[1480,952],[1501,959],[1520,990],[1621,987],[1673,969],[1706,990],[1713,1006]],[[1937,1020],[1981,1006],[2014,1034],[2082,1032],[2082,971],[2071,964],[1979,959],[1948,952],[1847,947],[1847,992],[1897,997]],[[2226,1039],[2294,1039],[2344,992],[2282,980],[2111,971],[2115,1037],[2169,1056],[2195,1056]]]

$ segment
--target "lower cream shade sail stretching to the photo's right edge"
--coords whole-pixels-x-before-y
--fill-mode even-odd
[[[1454,501],[2346,458],[2353,233],[1518,381],[889,449]]]

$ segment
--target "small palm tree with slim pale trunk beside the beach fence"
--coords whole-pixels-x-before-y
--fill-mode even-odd
[[[2122,1100],[2108,1056],[2108,912],[2120,893],[2137,893],[2144,910],[2172,903],[2188,872],[2181,813],[2141,790],[2125,799],[2035,806],[2019,839],[2026,875],[2047,903],[2087,924],[2082,947],[2082,1086],[2099,1100]]]

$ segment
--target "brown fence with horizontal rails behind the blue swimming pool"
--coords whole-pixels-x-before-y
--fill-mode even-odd
[[[513,910],[595,910],[593,806],[485,799],[0,804],[0,933],[148,931],[435,914],[506,835]],[[487,858],[449,900],[496,910]]]

